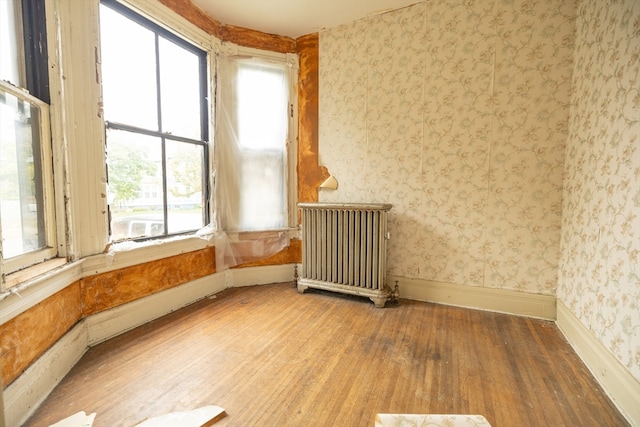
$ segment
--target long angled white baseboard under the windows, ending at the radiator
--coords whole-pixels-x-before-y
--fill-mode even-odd
[[[290,282],[293,272],[294,264],[226,270],[84,318],[4,389],[4,421],[22,425],[90,346],[229,287]]]

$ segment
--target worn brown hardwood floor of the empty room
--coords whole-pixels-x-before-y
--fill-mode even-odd
[[[552,322],[292,284],[225,290],[91,348],[26,424],[131,426],[218,405],[216,426],[373,426],[376,413],[499,426],[625,426]]]

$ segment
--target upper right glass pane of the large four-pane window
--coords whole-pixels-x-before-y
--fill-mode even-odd
[[[201,139],[200,58],[162,37],[159,49],[162,131]]]

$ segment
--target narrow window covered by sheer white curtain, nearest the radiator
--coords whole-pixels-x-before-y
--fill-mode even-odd
[[[289,226],[289,66],[218,58],[217,204],[225,231]]]

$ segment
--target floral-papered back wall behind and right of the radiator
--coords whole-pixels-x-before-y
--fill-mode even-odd
[[[320,33],[320,201],[394,205],[391,274],[555,295],[576,7],[427,1]]]

